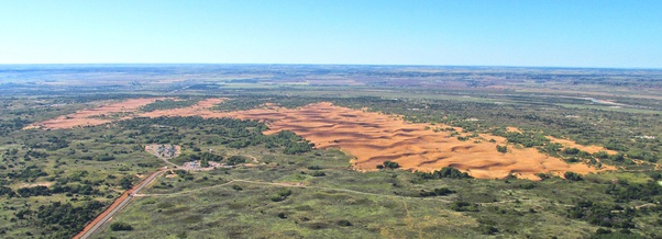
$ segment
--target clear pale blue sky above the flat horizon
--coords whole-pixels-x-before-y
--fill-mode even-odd
[[[662,1],[3,0],[0,64],[662,68]]]

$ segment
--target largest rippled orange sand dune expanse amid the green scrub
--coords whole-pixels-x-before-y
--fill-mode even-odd
[[[239,112],[210,110],[223,100],[208,99],[191,107],[154,111],[136,116],[197,115],[265,121],[269,126],[265,134],[288,129],[315,143],[318,148],[340,148],[355,157],[351,163],[354,169],[362,171],[376,170],[376,166],[386,160],[398,162],[404,169],[412,171],[433,171],[450,166],[482,179],[505,178],[515,173],[520,178],[537,180],[534,174],[539,172],[599,171],[582,163],[569,164],[533,148],[508,146],[508,152],[501,153],[496,150],[496,144],[487,143],[495,139],[497,144],[506,145],[503,137],[482,134],[482,139],[461,141],[448,132],[426,129],[430,126],[428,124],[411,124],[397,116],[351,110],[331,103],[316,103],[300,109],[265,105]]]

